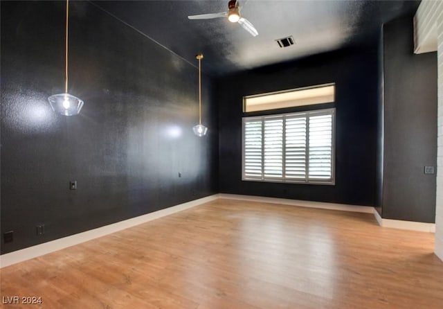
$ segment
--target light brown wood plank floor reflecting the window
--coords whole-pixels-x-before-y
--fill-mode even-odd
[[[1,270],[3,308],[443,308],[433,233],[216,200]],[[7,300],[7,299],[6,299]]]

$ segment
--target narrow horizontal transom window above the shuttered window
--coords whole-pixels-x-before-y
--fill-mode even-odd
[[[298,107],[321,103],[331,103],[335,100],[335,84],[317,85],[290,89],[285,91],[245,96],[243,98],[244,112],[258,112],[269,109]]]

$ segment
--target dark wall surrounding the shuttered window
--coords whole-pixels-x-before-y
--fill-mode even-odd
[[[375,204],[377,155],[377,48],[342,50],[217,80],[221,193],[298,200]],[[336,184],[242,181],[242,97],[336,83]],[[295,112],[299,109],[285,109]],[[282,111],[279,111],[282,112]]]

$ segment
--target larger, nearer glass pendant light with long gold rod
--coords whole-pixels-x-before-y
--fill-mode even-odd
[[[64,94],[54,94],[48,98],[49,104],[54,112],[64,116],[77,115],[82,109],[83,100],[68,94],[68,21],[69,21],[69,0],[66,0],[66,33],[64,44]]]

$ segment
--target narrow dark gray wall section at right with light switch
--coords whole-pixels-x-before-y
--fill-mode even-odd
[[[383,27],[383,209],[388,219],[435,222],[437,56],[413,53],[413,18]]]

